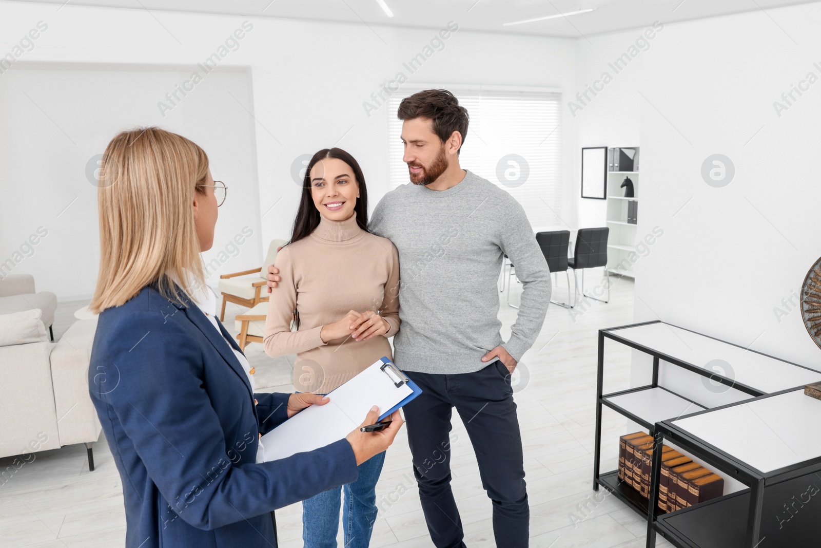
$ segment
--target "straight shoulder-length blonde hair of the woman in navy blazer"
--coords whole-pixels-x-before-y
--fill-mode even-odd
[[[150,284],[181,303],[176,283],[205,283],[191,205],[208,168],[198,145],[158,127],[122,131],[108,143],[97,193],[100,268],[91,311],[121,306]]]

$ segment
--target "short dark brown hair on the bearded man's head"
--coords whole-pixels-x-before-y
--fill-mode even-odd
[[[459,99],[448,90],[424,90],[402,99],[397,117],[400,120],[428,118],[433,121],[433,132],[445,142],[453,133],[459,131],[462,145],[467,137],[469,117],[467,108],[459,104]],[[461,151],[461,145],[456,154]]]

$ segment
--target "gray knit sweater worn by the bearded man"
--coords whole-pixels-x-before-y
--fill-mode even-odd
[[[409,182],[384,196],[369,228],[399,251],[393,356],[401,369],[471,373],[487,366],[481,357],[491,348],[501,344],[521,360],[533,345],[550,302],[550,273],[525,211],[506,191],[470,171],[446,191]],[[507,342],[497,319],[505,254],[524,285]]]

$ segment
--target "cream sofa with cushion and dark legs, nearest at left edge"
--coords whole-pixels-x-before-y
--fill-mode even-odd
[[[48,299],[31,298],[43,295],[34,293],[33,280],[7,284],[9,278],[0,280],[0,457],[25,458],[82,443],[94,470],[91,444],[102,427],[89,397],[88,371],[97,320],[78,320],[52,343],[47,326],[53,323],[57,299],[53,308],[16,310],[20,302],[45,306]],[[6,306],[9,297],[11,306]],[[13,297],[19,298],[15,302]]]

